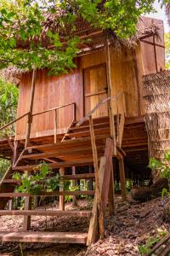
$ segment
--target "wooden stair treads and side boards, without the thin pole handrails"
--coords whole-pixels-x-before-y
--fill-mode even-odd
[[[110,210],[114,211],[114,188],[112,177],[112,156],[113,141],[110,138],[109,118],[94,119],[94,133],[96,155],[99,165],[100,198],[102,199],[102,209],[105,217],[105,207],[110,201]],[[94,152],[90,137],[88,121],[79,127],[74,124],[70,127],[65,136],[65,140],[57,143],[47,143],[31,145],[19,156],[17,165],[10,167],[5,173],[0,183],[0,216],[21,215],[28,220],[30,216],[70,216],[77,218],[89,218],[88,233],[75,232],[0,232],[1,241],[24,241],[24,242],[56,242],[56,243],[82,243],[90,245],[99,237],[99,209],[96,190],[85,191],[54,191],[46,192],[37,196],[65,196],[65,195],[95,195],[92,211],[44,211],[44,210],[6,210],[8,200],[14,197],[31,198],[35,195],[14,192],[15,186],[19,184],[14,180],[14,172],[36,172],[37,166],[46,159],[48,166],[56,171],[59,168],[71,166],[92,166],[94,165]],[[62,180],[94,179],[96,173],[82,173],[76,175],[62,175]],[[112,189],[112,191],[111,191]],[[109,193],[110,191],[110,193]],[[110,196],[109,196],[110,195]],[[26,225],[25,225],[26,226]]]

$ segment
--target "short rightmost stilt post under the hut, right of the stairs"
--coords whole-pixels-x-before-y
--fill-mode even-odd
[[[120,181],[121,181],[122,201],[126,201],[127,191],[126,191],[125,170],[124,170],[123,157],[120,152],[118,152],[117,154],[117,159],[119,161],[119,175],[120,175]]]

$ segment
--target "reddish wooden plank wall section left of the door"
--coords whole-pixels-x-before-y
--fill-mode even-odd
[[[31,74],[25,74],[20,80],[20,96],[17,116],[28,110],[31,89]],[[47,70],[38,71],[36,89],[33,103],[33,113],[49,108],[56,108],[71,102],[76,102],[77,119],[83,116],[82,102],[82,70],[80,63],[70,74],[59,77],[48,76]],[[71,125],[73,112],[71,106],[59,109],[58,133],[63,133]],[[26,118],[21,119],[16,125],[16,139],[22,139],[26,134]],[[42,137],[54,134],[54,112],[43,113],[33,118],[31,137]]]

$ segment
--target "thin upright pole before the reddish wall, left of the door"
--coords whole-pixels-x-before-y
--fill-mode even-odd
[[[27,125],[26,125],[25,149],[27,148],[28,143],[30,141],[31,123],[32,123],[32,109],[33,109],[34,92],[35,92],[35,81],[36,81],[36,70],[33,69],[32,80],[31,80],[31,96],[30,96],[30,103],[29,103],[29,110],[28,110],[28,121],[27,121]]]

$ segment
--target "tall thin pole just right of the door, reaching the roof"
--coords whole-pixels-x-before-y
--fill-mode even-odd
[[[106,39],[105,44],[105,55],[106,55],[106,74],[108,83],[108,96],[112,99],[112,84],[111,84],[111,56],[109,49],[109,39]],[[111,125],[111,137],[113,138],[113,154],[116,155],[116,132],[115,132],[115,119],[112,109],[112,101],[109,101],[109,117]]]

